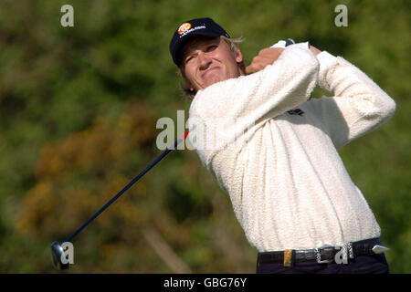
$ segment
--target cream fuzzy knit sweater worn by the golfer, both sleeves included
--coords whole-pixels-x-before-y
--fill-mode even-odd
[[[317,83],[333,97],[307,101]],[[297,44],[258,73],[198,91],[188,137],[251,245],[309,249],[380,235],[337,149],[394,112],[360,69]]]

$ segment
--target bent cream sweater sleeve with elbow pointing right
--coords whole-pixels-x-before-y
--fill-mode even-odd
[[[395,101],[359,68],[326,51],[317,58],[319,85],[333,97],[311,99],[309,103],[329,130],[337,149],[375,130],[393,116]]]

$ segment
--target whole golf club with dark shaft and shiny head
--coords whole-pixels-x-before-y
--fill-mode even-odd
[[[184,139],[188,135],[188,132],[189,131],[187,130],[180,139],[175,141],[173,147],[168,147],[165,151],[163,151],[162,154],[160,154],[153,162],[151,162],[144,170],[142,170],[142,172],[140,172],[136,177],[134,177],[132,179],[132,181],[130,183],[128,183],[119,193],[117,193],[115,196],[113,196],[108,203],[103,205],[100,208],[99,211],[97,211],[95,214],[93,214],[90,217],[89,220],[87,220],[84,224],[79,226],[79,228],[72,235],[69,235],[68,238],[63,243],[71,242],[71,240],[76,235],[79,235],[79,232],[81,230],[83,230],[88,224],[90,224],[91,221],[96,219],[97,216],[99,216],[104,210],[106,210],[111,205],[111,203],[114,203],[114,201],[116,201],[118,198],[120,198],[121,194],[123,194],[128,189],[130,189],[130,187],[132,187],[132,185],[134,183],[137,183],[145,173],[149,172],[155,164],[160,162],[168,153],[173,151],[180,142],[184,141]],[[66,260],[67,258],[66,258],[65,250],[63,249],[62,245],[60,245],[57,241],[55,241],[51,244],[51,259],[52,259],[53,266],[55,266],[57,269],[59,269],[59,270],[68,269],[69,264],[68,264],[68,261]]]

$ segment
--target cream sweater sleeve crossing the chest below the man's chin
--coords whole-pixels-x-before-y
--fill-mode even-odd
[[[215,135],[219,146],[214,143],[210,149],[216,151],[250,127],[308,99],[317,83],[319,68],[317,58],[308,48],[299,44],[286,47],[272,65],[257,73],[199,90],[190,107],[191,124],[201,125],[198,128],[203,131],[206,127],[206,132]],[[203,136],[203,148],[209,137]],[[197,142],[195,147],[198,145]]]

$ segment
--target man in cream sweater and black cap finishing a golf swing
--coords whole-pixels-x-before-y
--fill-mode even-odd
[[[170,52],[193,99],[188,138],[258,250],[257,273],[388,273],[380,227],[337,150],[389,120],[395,101],[309,43],[279,41],[248,67],[238,43],[196,18]],[[317,84],[332,97],[308,100]]]

